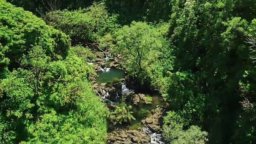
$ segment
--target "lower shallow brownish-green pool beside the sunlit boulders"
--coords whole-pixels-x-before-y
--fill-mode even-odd
[[[143,124],[141,121],[151,114],[151,110],[155,109],[156,106],[163,103],[162,98],[159,95],[146,95],[147,97],[152,98],[151,104],[140,104],[140,106],[133,108],[133,116],[136,120],[130,122],[130,130],[141,128]]]

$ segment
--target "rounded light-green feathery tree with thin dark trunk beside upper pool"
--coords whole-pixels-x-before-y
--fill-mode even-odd
[[[132,22],[115,35],[117,44],[113,52],[122,54],[126,70],[143,82],[147,68],[160,54],[158,33],[146,23]]]

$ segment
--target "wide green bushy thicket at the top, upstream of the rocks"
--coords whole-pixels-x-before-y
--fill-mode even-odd
[[[73,43],[98,42],[118,25],[116,16],[110,16],[104,3],[94,3],[92,6],[74,11],[57,10],[48,12],[46,22],[68,34]]]

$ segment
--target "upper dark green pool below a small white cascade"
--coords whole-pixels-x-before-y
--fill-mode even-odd
[[[119,70],[116,68],[110,68],[108,72],[99,72],[97,82],[99,83],[111,83],[115,80],[119,80],[125,76],[124,70]]]

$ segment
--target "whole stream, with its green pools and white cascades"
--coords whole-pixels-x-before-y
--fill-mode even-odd
[[[108,62],[109,58],[106,56],[104,58],[105,62]],[[88,63],[92,64],[92,63]],[[121,78],[125,78],[125,72],[124,70],[120,70],[118,68],[102,68],[100,67],[100,72],[98,72],[98,77],[96,78],[96,82],[100,85],[105,84],[112,84],[115,82],[118,82]],[[122,82],[120,83],[122,85],[121,88],[121,94],[122,95],[128,95],[130,94],[133,90],[130,90],[127,88],[126,83]],[[108,85],[106,85],[108,86]],[[102,90],[102,95],[101,99],[103,102],[108,100],[108,98],[111,96],[111,94],[108,92],[108,87]],[[136,93],[136,91],[135,91]],[[112,94],[113,95],[113,94]],[[144,132],[148,132],[148,135],[150,136],[150,144],[164,144],[161,142],[162,135],[153,133],[150,128],[148,128],[146,125],[142,124],[142,120],[150,116],[152,114],[152,110],[154,110],[157,106],[162,105],[163,100],[160,97],[159,94],[150,94],[150,93],[143,93],[143,94],[138,94],[141,96],[144,96],[146,98],[152,99],[151,104],[139,104],[138,106],[133,106],[132,111],[133,111],[133,116],[136,118],[136,120],[132,120],[127,126],[128,130],[138,130],[141,129]],[[113,97],[113,96],[112,96]],[[118,98],[118,92],[114,94],[115,98]],[[115,102],[112,102],[111,100],[108,100],[111,104],[115,104]]]

